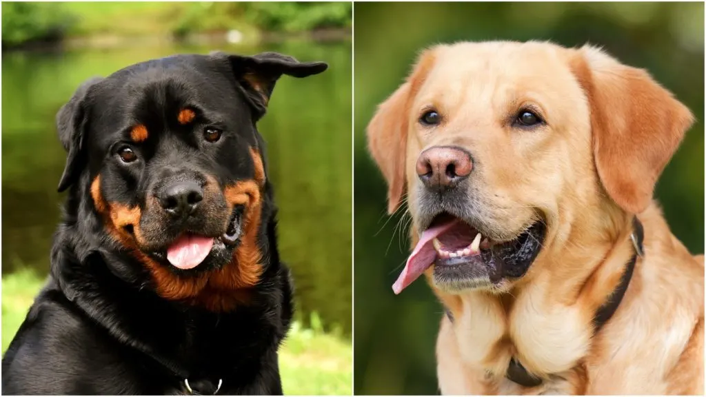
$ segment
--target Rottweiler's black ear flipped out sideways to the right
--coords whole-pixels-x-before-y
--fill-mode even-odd
[[[263,52],[252,57],[214,52],[211,56],[227,57],[236,80],[256,110],[258,118],[265,114],[275,83],[283,74],[303,78],[328,69],[325,62],[299,62],[277,52]]]

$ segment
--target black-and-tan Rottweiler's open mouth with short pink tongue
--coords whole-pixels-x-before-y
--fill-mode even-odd
[[[166,253],[155,253],[155,256],[164,258],[175,268],[189,270],[196,268],[215,251],[225,251],[228,247],[234,249],[243,232],[244,206],[234,208],[225,233],[218,237],[198,235],[186,231],[175,239],[166,249]],[[166,255],[165,255],[166,254]]]

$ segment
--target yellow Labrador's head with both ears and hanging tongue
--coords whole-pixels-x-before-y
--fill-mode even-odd
[[[447,292],[507,290],[582,224],[647,208],[691,123],[645,71],[594,47],[426,50],[368,126],[388,210],[406,192],[414,219],[393,289],[426,271]]]

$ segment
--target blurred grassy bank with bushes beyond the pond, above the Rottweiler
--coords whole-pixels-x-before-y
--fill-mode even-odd
[[[352,25],[350,2],[18,2],[2,7],[5,46],[62,37],[147,36],[239,30],[306,32]]]

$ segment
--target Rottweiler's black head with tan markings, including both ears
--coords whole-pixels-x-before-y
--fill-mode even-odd
[[[252,287],[273,206],[256,122],[280,76],[326,68],[275,53],[190,54],[87,81],[56,117],[68,150],[59,191],[71,187],[163,297]]]

